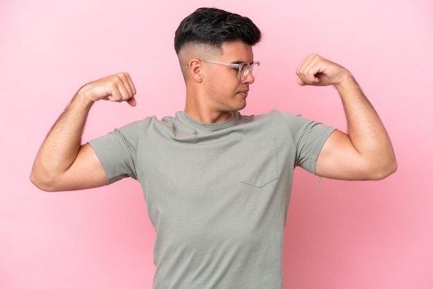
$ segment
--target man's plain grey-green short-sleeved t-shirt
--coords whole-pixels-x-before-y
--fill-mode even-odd
[[[89,142],[108,183],[137,179],[156,230],[154,288],[282,288],[296,166],[333,128],[271,111],[205,124],[145,118]]]

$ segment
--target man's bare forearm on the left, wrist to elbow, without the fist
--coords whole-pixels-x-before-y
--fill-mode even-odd
[[[71,167],[80,151],[84,124],[92,104],[80,91],[73,97],[37,153],[30,175],[33,183],[50,182]]]

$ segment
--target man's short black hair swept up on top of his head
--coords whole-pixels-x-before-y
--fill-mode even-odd
[[[199,8],[187,16],[176,30],[174,49],[179,54],[185,44],[205,44],[221,48],[225,42],[259,43],[261,32],[248,17],[216,8]]]

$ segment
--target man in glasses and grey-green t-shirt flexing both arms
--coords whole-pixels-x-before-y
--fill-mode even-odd
[[[104,77],[77,91],[37,154],[31,180],[46,191],[140,181],[156,230],[154,288],[282,288],[294,167],[342,180],[378,180],[396,170],[385,127],[353,75],[318,55],[297,68],[298,83],[335,86],[348,133],[280,111],[241,115],[260,38],[246,17],[196,10],[175,36],[184,111],[82,145],[95,102],[136,105],[127,73]]]

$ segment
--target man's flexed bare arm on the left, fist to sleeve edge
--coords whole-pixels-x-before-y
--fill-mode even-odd
[[[87,115],[98,100],[126,101],[135,106],[135,94],[136,88],[127,73],[82,86],[42,143],[30,174],[32,183],[48,192],[107,185],[107,176],[95,152],[89,144],[81,144]]]

